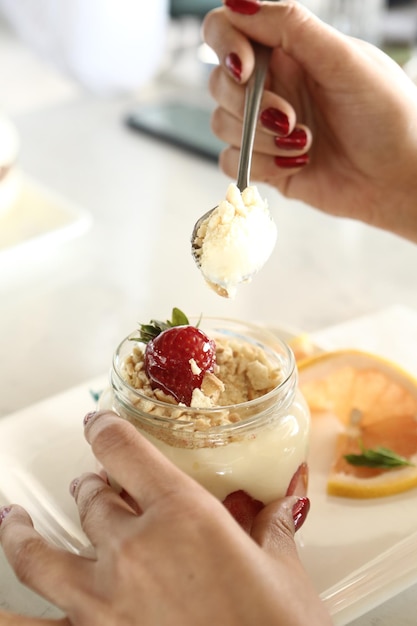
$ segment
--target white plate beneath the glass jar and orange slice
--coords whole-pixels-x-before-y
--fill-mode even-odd
[[[358,348],[364,347],[360,338],[361,329],[365,329],[362,337],[369,341],[372,334],[377,352],[377,322],[385,351],[388,331],[397,336],[395,346],[401,343],[402,334],[410,338],[417,332],[417,315],[402,309],[373,316],[372,320],[355,320],[340,328],[349,336],[350,345],[354,336],[352,347]],[[344,345],[335,328],[317,334],[326,347],[330,347],[329,338],[335,347]],[[412,350],[416,343],[403,345]],[[396,360],[401,362],[399,356]],[[88,546],[88,541],[79,526],[68,485],[81,472],[94,469],[94,459],[82,434],[82,417],[94,407],[91,392],[100,391],[106,383],[107,377],[103,376],[0,420],[0,504],[19,502],[46,537],[75,552]],[[414,490],[372,501],[327,496],[331,445],[326,445],[326,439],[332,436],[331,428],[313,431],[309,486],[312,508],[298,534],[298,543],[306,569],[334,623],[341,626],[417,582],[417,494]],[[0,606],[21,609],[21,587],[10,576],[0,579]],[[49,605],[40,604],[32,596],[25,606],[32,614],[54,614]]]

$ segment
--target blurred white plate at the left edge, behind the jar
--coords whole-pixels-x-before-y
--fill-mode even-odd
[[[20,173],[22,188],[15,203],[0,215],[0,261],[33,254],[83,234],[91,224],[84,209]]]

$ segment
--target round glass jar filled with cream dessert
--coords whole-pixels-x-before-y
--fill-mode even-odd
[[[203,318],[199,328],[215,341],[221,337],[262,348],[268,362],[279,368],[280,382],[258,398],[214,408],[151,399],[128,384],[123,372],[135,331],[114,354],[110,388],[103,392],[100,408],[129,420],[220,500],[243,490],[268,504],[286,494],[307,458],[310,414],[297,388],[294,355],[275,335],[252,324]]]

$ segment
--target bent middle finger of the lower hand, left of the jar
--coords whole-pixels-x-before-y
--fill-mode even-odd
[[[137,514],[129,504],[97,474],[83,474],[71,484],[71,493],[78,506],[81,525],[93,546],[113,539],[113,530],[129,526]]]

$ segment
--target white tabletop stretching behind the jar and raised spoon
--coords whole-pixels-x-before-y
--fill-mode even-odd
[[[121,337],[172,306],[307,331],[398,304],[417,310],[417,246],[264,186],[278,245],[251,285],[222,300],[194,266],[189,236],[229,180],[209,161],[129,131],[122,120],[141,93],[82,92],[0,35],[0,108],[19,129],[21,168],[92,217],[86,234],[58,247],[12,262],[0,255],[0,416],[100,376]],[[32,81],[25,68],[35,67]],[[1,590],[0,578],[7,607]],[[416,594],[352,626],[415,624]],[[22,610],[35,610],[24,597]]]

